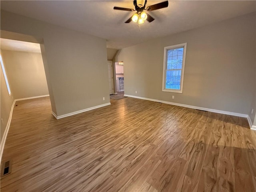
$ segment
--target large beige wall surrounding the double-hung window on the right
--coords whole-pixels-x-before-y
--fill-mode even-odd
[[[122,49],[114,60],[124,61],[125,94],[249,114],[253,121],[255,23],[255,13],[248,14]],[[164,47],[185,42],[183,93],[162,92]]]

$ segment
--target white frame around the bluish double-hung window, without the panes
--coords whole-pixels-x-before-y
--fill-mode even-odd
[[[180,90],[176,89],[166,89],[165,83],[166,83],[166,71],[167,71],[167,51],[170,49],[176,49],[176,48],[184,48],[183,50],[183,57],[182,57],[182,69],[181,69],[181,77],[180,77]],[[186,58],[186,48],[187,43],[182,43],[178,45],[172,45],[164,47],[164,65],[163,65],[163,82],[162,82],[162,91],[164,92],[173,92],[173,93],[182,93],[183,89],[183,79],[184,79],[184,68],[185,68],[185,58]]]

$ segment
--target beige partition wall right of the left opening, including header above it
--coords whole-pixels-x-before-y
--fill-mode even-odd
[[[58,116],[110,102],[105,39],[3,10],[1,30],[43,38],[46,79]]]

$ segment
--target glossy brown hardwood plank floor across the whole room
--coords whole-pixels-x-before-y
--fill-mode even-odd
[[[124,98],[56,120],[48,97],[16,104],[1,192],[256,191],[246,118]]]

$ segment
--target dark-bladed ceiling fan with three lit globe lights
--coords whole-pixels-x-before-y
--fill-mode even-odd
[[[144,23],[144,20],[147,20],[148,22],[152,22],[155,19],[150,16],[150,14],[144,12],[144,11],[154,11],[158,9],[162,9],[165,7],[168,7],[168,1],[164,1],[158,4],[150,5],[146,8],[147,0],[145,0],[143,5],[143,0],[134,0],[133,4],[135,9],[130,8],[123,8],[123,7],[114,7],[116,10],[123,10],[123,11],[136,11],[136,13],[131,16],[125,23],[130,23],[131,21],[137,22],[138,24]]]

